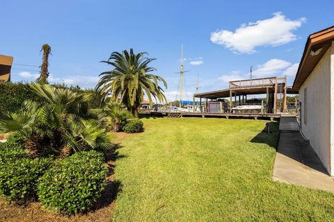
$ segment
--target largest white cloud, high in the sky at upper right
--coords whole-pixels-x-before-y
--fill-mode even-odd
[[[213,32],[210,39],[237,53],[254,53],[257,46],[279,46],[296,40],[292,31],[299,28],[305,20],[304,17],[290,20],[282,12],[276,12],[270,19],[243,24],[234,32]]]

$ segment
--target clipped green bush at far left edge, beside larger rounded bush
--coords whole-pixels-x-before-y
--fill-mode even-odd
[[[14,203],[35,199],[38,179],[51,166],[49,158],[22,158],[0,164],[0,194]]]

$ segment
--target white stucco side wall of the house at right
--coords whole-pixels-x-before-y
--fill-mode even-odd
[[[332,168],[334,152],[331,152],[333,147],[331,144],[334,144],[332,136],[334,132],[331,132],[331,124],[334,124],[334,114],[331,115],[331,113],[334,113],[334,109],[331,107],[334,107],[332,102],[334,99],[334,72],[331,72],[333,69],[331,60],[333,61],[333,59],[333,46],[331,46],[299,89],[301,132],[306,139],[310,140],[310,145],[332,176],[334,174]],[[307,87],[307,107],[304,104],[305,87]],[[333,96],[331,96],[331,92]],[[307,123],[304,123],[305,109],[307,109]],[[334,125],[332,126],[334,127]]]

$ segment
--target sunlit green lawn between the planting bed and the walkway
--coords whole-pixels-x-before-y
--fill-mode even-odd
[[[271,181],[277,123],[143,121],[118,150],[115,221],[334,221],[334,194]]]

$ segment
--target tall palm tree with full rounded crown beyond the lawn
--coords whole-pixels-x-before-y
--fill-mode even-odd
[[[167,88],[167,83],[164,78],[150,74],[156,71],[149,67],[149,63],[155,60],[154,58],[146,58],[147,53],[134,54],[134,50],[130,49],[119,53],[114,51],[111,53],[109,60],[102,61],[111,65],[111,71],[105,71],[100,74],[99,83],[95,90],[103,94],[103,99],[111,96],[110,100],[113,103],[123,103],[127,110],[131,111],[134,117],[138,117],[138,107],[143,101],[144,95],[148,96],[150,103],[152,97],[164,103],[164,89],[159,86],[159,82]]]

